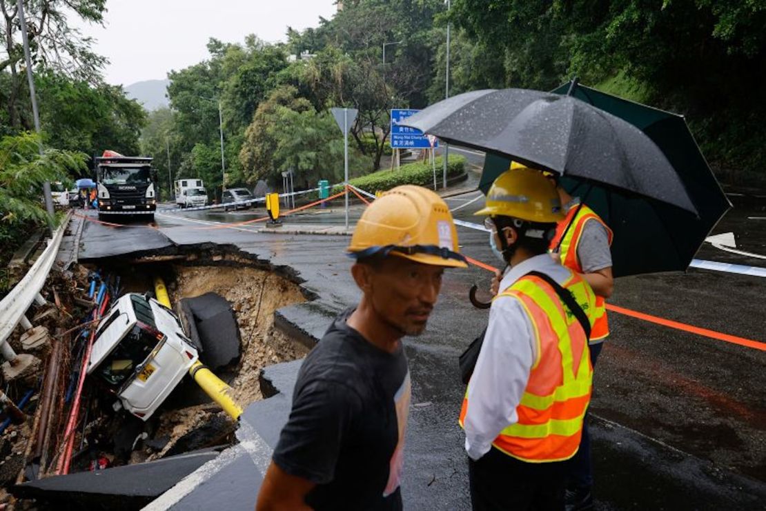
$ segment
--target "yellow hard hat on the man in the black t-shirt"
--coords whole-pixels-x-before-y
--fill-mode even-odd
[[[370,204],[346,250],[355,259],[391,254],[425,265],[467,266],[447,204],[413,184],[388,190]]]

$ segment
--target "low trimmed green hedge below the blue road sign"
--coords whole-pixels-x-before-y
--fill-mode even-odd
[[[465,174],[466,158],[458,155],[450,155],[450,163],[447,166],[447,179],[458,177]],[[436,158],[436,177],[437,184],[441,187],[442,179],[442,158]],[[356,177],[349,181],[355,187],[362,188],[368,192],[391,190],[401,184],[419,184],[423,187],[434,187],[434,169],[430,164],[417,161],[402,165],[401,168],[393,171],[388,169],[373,172],[366,176]],[[332,189],[333,194],[342,191],[341,186]]]

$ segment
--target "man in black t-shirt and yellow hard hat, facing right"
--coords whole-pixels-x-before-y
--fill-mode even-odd
[[[401,338],[425,330],[445,268],[466,267],[444,200],[396,187],[348,249],[362,291],[301,366],[257,509],[401,509],[410,376]]]

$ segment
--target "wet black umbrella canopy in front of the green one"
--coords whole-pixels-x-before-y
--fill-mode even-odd
[[[660,148],[629,122],[572,96],[476,90],[404,123],[445,142],[607,184],[696,213]]]

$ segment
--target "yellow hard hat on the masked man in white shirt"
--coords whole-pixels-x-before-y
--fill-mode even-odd
[[[486,206],[475,214],[512,216],[538,223],[555,223],[564,218],[555,186],[542,172],[516,162],[489,187]]]

